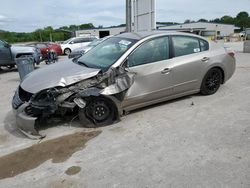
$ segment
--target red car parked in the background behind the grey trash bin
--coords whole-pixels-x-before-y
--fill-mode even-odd
[[[27,46],[35,46],[40,49],[43,59],[47,58],[48,52],[54,51],[56,55],[62,55],[62,48],[59,44],[50,42],[33,42],[27,44]]]

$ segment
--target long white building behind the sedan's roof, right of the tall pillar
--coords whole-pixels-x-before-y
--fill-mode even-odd
[[[219,24],[219,23],[209,23],[209,22],[194,22],[194,23],[184,23],[171,25],[166,27],[159,27],[159,30],[177,30],[183,32],[191,32],[200,35],[211,35],[212,32],[216,36],[229,36],[234,33],[238,27],[230,24]]]

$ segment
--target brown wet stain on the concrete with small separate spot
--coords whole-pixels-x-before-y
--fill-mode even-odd
[[[0,179],[14,177],[34,169],[49,159],[52,159],[53,163],[64,162],[100,133],[101,131],[77,132],[3,156],[0,158]],[[73,175],[81,169],[74,167],[68,170],[68,173]]]

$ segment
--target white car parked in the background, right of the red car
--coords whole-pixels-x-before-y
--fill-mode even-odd
[[[96,39],[96,37],[73,37],[64,41],[61,44],[61,48],[64,54],[69,55],[73,50],[87,46]]]

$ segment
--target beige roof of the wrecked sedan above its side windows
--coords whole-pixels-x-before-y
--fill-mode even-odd
[[[115,37],[121,37],[121,38],[128,38],[128,39],[134,39],[134,40],[141,40],[147,37],[151,36],[157,36],[157,35],[183,35],[183,36],[191,36],[191,37],[197,37],[201,38],[203,40],[206,40],[205,38],[190,34],[190,33],[184,33],[184,32],[178,32],[178,31],[146,31],[146,32],[134,32],[134,33],[122,33],[119,35],[116,35]]]

